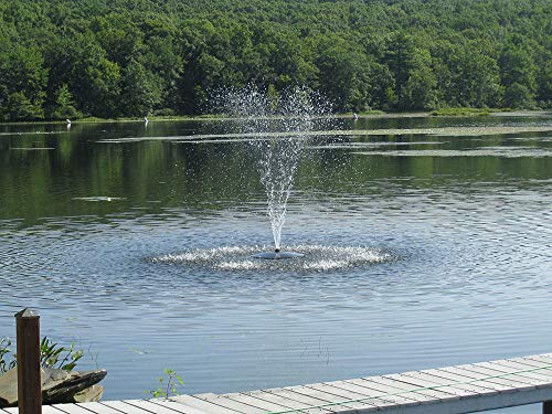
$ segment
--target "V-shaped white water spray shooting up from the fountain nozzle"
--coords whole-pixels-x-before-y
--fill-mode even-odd
[[[299,253],[282,252],[282,229],[286,221],[287,201],[294,178],[304,153],[309,131],[315,129],[320,116],[329,113],[325,99],[305,88],[283,91],[268,96],[258,88],[226,89],[216,100],[223,109],[240,119],[241,134],[253,136],[253,146],[267,198],[267,212],[274,236],[274,252],[255,255],[258,258],[290,258]],[[267,139],[267,132],[270,138]],[[282,135],[279,135],[282,134]]]

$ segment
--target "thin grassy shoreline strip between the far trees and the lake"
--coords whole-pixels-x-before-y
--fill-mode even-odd
[[[467,117],[477,117],[477,116],[511,116],[511,117],[529,117],[529,116],[552,116],[552,110],[500,110],[500,109],[489,109],[489,113],[458,113],[450,115],[432,115],[431,112],[421,112],[421,113],[368,113],[357,114],[359,119],[378,119],[378,118],[429,118],[429,117],[438,117],[438,118],[467,118]],[[352,113],[347,114],[335,114],[329,115],[328,117],[337,118],[337,119],[349,119],[352,118]],[[210,120],[232,120],[232,119],[243,119],[243,118],[234,118],[227,116],[217,116],[217,115],[176,115],[176,116],[151,116],[148,118],[148,121],[210,121]],[[144,118],[83,118],[75,119],[72,124],[116,124],[116,123],[144,123]],[[65,120],[30,120],[30,121],[14,121],[14,123],[0,123],[0,125],[44,125],[44,124],[66,124]]]

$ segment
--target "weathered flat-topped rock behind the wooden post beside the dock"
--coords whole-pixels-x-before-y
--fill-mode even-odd
[[[71,403],[97,401],[104,392],[103,386],[96,386],[107,374],[105,370],[64,371],[53,368],[41,369],[42,403]],[[84,400],[86,397],[95,400]],[[0,407],[18,405],[18,369],[14,368],[0,375]]]

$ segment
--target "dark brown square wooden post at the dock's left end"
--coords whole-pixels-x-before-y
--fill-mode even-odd
[[[18,341],[18,406],[21,414],[42,414],[40,315],[25,308],[15,314]]]

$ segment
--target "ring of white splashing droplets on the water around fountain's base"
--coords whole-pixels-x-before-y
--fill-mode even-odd
[[[293,245],[286,251],[302,254],[302,257],[280,261],[253,258],[257,253],[272,251],[270,246],[224,246],[192,250],[146,257],[153,264],[204,266],[219,270],[304,270],[327,272],[348,267],[362,267],[396,259],[390,252],[362,246]]]

